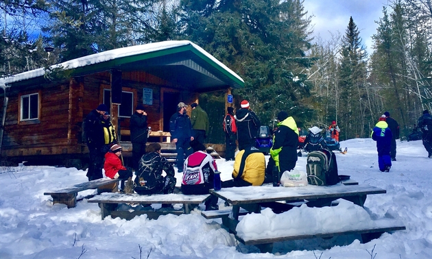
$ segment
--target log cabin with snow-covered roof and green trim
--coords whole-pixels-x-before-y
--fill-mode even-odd
[[[215,90],[228,97],[243,86],[239,75],[187,40],[113,49],[1,78],[1,160],[86,168],[82,121],[99,103],[110,108],[127,156],[138,104],[146,108],[151,136],[169,142],[169,118],[180,101],[197,102],[200,93]]]

